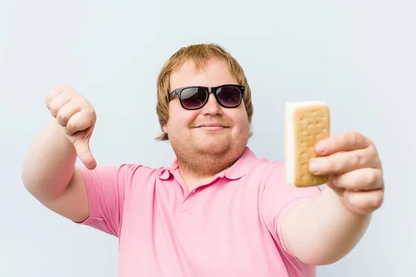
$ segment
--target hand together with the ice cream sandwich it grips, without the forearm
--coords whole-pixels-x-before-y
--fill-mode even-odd
[[[355,214],[368,214],[381,206],[383,171],[370,139],[358,132],[330,136],[329,109],[324,102],[289,103],[285,118],[289,184],[327,184]]]

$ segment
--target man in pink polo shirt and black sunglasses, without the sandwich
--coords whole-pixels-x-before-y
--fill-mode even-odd
[[[322,191],[285,184],[282,163],[255,157],[250,87],[215,44],[181,48],[159,74],[169,167],[96,166],[92,105],[57,87],[46,106],[53,118],[24,184],[52,211],[119,238],[120,276],[315,276],[353,249],[383,202],[379,156],[357,132],[316,145],[310,170],[331,176]]]

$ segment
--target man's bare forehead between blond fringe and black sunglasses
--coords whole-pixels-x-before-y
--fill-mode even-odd
[[[195,62],[188,60],[173,71],[170,78],[171,90],[193,85],[216,87],[221,84],[238,84],[238,82],[229,71],[227,62],[219,58],[207,60],[202,69],[197,69]]]

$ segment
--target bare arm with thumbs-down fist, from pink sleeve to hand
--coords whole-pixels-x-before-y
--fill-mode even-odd
[[[96,167],[89,150],[94,107],[70,87],[52,89],[46,107],[54,118],[28,150],[21,178],[44,206],[81,222],[89,216],[89,207],[85,182],[75,163],[78,156],[87,167]]]

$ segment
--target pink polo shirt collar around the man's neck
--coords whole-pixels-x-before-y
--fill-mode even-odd
[[[225,177],[230,180],[240,179],[244,175],[248,174],[255,161],[257,161],[256,155],[254,152],[252,152],[252,150],[250,150],[248,146],[246,146],[241,157],[231,167],[227,168],[227,170],[220,172],[218,177]],[[171,166],[168,166],[166,170],[162,170],[161,174],[159,175],[159,179],[167,180],[169,177],[171,177],[171,175],[174,174],[174,172],[177,171],[177,168],[178,163],[177,159],[175,158],[173,159]]]

